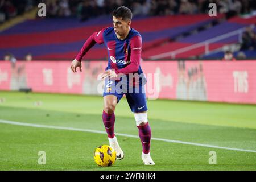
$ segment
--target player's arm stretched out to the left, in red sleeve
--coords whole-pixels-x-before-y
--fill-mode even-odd
[[[94,32],[84,43],[84,46],[80,49],[79,53],[77,54],[76,58],[71,63],[71,70],[75,73],[76,68],[79,67],[80,72],[82,72],[82,57],[89,51],[90,48],[94,46],[94,44],[102,44],[104,43],[103,39],[103,32],[106,28],[102,29],[101,31]]]

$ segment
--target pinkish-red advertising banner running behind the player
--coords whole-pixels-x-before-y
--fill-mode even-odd
[[[0,61],[0,90],[102,94],[106,61]],[[256,61],[142,61],[148,99],[256,104]],[[78,70],[78,69],[77,69]]]

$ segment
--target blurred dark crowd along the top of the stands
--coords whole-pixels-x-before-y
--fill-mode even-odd
[[[227,16],[256,10],[255,0],[0,0],[0,23],[46,3],[47,18],[74,17],[80,20],[110,14],[127,6],[138,15],[173,15],[208,13],[209,3],[216,3],[218,13]]]

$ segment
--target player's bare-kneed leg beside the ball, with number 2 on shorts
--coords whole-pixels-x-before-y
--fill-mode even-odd
[[[104,109],[102,112],[102,121],[104,123],[106,133],[109,138],[109,145],[115,152],[117,152],[117,159],[123,159],[123,151],[117,142],[117,137],[114,134],[114,123],[115,123],[115,107],[119,100],[121,100],[123,94],[118,94],[115,92],[110,92],[115,89],[115,82],[106,81],[104,87]]]

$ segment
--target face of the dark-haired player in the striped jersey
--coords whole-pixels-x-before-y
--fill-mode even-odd
[[[123,36],[129,31],[131,21],[122,20],[122,18],[117,18],[113,16],[113,26],[115,30],[115,34],[117,36]]]

